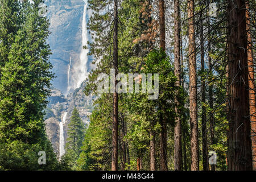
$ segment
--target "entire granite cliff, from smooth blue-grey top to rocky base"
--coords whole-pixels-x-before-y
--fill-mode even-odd
[[[86,55],[88,50],[82,49],[90,40],[86,28],[89,10],[86,9],[86,0],[46,0],[45,3],[51,31],[48,38],[52,50],[50,61],[56,76],[52,81],[45,122],[48,138],[56,154],[59,154],[59,123],[64,113],[67,112],[63,125],[64,139],[67,139],[73,108],[77,107],[85,125],[89,123],[88,115],[92,112],[94,97],[85,96],[82,92],[85,86],[85,81],[82,81],[92,62],[92,57]]]

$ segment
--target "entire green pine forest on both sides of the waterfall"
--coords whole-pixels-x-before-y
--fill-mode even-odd
[[[84,94],[97,99],[89,126],[73,108],[60,161],[44,126],[54,74],[41,2],[0,0],[0,170],[256,170],[255,0],[88,0]],[[152,74],[158,98],[140,77],[139,93],[98,93],[113,69]]]

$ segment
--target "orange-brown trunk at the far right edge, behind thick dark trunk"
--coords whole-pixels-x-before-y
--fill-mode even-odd
[[[247,62],[249,69],[249,104],[250,104],[250,121],[251,121],[251,152],[253,156],[253,170],[256,171],[256,108],[255,108],[255,82],[254,82],[254,63],[253,51],[251,45],[250,31],[250,13],[249,2],[246,1],[246,31],[247,31]]]

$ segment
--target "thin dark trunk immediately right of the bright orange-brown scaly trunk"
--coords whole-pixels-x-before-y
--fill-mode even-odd
[[[202,105],[202,151],[203,151],[203,170],[209,171],[208,147],[207,147],[207,121],[205,109],[205,80],[204,80],[204,24],[202,10],[200,13],[200,48],[201,48],[201,105]]]

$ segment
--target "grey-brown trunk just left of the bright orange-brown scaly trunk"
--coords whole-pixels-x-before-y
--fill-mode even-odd
[[[174,1],[174,74],[177,77],[175,85],[180,87],[180,1]],[[181,119],[179,92],[175,96],[175,118],[174,127],[174,169],[182,169],[182,146],[181,146]]]

